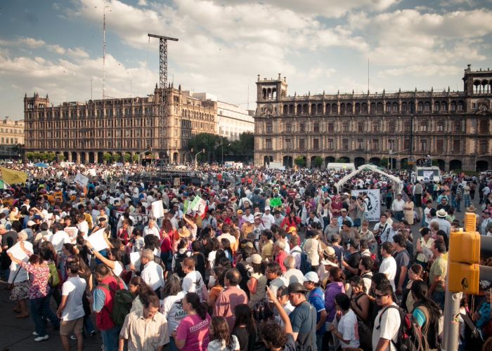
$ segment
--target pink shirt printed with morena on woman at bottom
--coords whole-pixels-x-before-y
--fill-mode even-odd
[[[198,314],[189,314],[179,322],[176,340],[186,340],[181,351],[207,351],[211,320],[209,314],[205,319]]]

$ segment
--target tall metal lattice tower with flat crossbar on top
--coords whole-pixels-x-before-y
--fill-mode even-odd
[[[148,34],[149,37],[159,39],[159,88],[160,88],[160,105],[159,105],[159,157],[166,153],[169,157],[169,145],[167,145],[167,41],[178,41],[176,38],[163,37],[157,34]]]

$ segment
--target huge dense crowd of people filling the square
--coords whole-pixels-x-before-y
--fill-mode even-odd
[[[0,190],[15,317],[32,318],[35,342],[58,331],[63,350],[99,332],[108,351],[439,350],[456,212],[492,235],[486,176],[426,184],[393,171],[401,192],[371,171],[341,191],[346,172],[308,169],[207,166],[186,185],[128,180],[139,166],[108,179],[94,165],[86,186],[67,180],[83,168],[56,164]],[[376,223],[363,191],[373,189],[385,205]],[[492,343],[492,286],[480,286],[462,296],[460,350]]]

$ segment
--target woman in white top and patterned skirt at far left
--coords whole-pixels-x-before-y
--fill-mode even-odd
[[[20,231],[18,234],[18,241],[26,241],[27,234],[24,231]],[[23,244],[25,244],[23,242]],[[32,245],[28,243],[30,248]],[[27,247],[27,245],[25,245]],[[32,249],[31,249],[32,250]],[[32,252],[26,248],[25,252],[27,256],[32,255]],[[11,301],[15,301],[16,306],[13,307],[13,312],[18,313],[15,318],[25,318],[29,317],[29,312],[27,312],[27,299],[29,298],[29,277],[27,272],[20,265],[15,262],[11,263],[11,273],[8,276],[8,283],[13,284],[11,290]]]

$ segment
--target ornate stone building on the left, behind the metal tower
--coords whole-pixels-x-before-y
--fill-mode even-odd
[[[101,163],[103,154],[153,154],[164,151],[171,161],[191,161],[188,140],[198,133],[215,133],[217,105],[200,101],[189,92],[167,89],[169,115],[165,150],[159,150],[159,101],[155,88],[146,98],[107,98],[89,102],[63,102],[24,98],[25,151],[54,151],[68,161]]]

